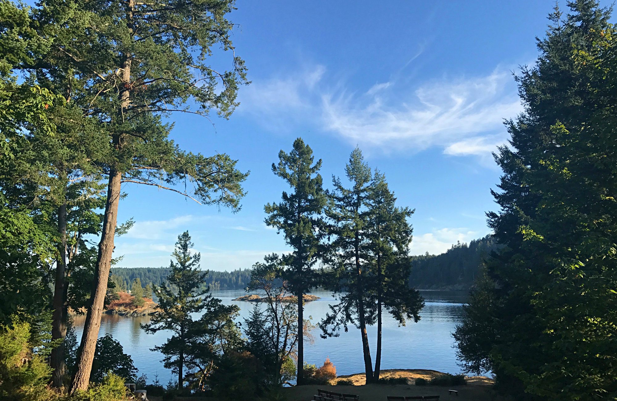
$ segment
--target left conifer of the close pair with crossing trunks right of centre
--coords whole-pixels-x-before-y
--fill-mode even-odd
[[[366,326],[376,321],[377,302],[375,298],[374,270],[371,261],[371,242],[368,238],[368,216],[366,202],[373,191],[371,169],[364,162],[358,147],[352,151],[345,167],[351,188],[345,188],[341,179],[333,177],[333,206],[328,215],[334,221],[330,231],[334,234],[331,263],[333,277],[325,287],[339,294],[339,303],[331,305],[320,327],[324,336],[334,336],[343,326],[352,323],[360,329],[366,382],[373,381],[373,363]]]

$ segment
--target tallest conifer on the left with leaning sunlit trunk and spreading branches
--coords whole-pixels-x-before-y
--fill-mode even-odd
[[[70,100],[81,115],[96,120],[104,144],[93,160],[107,181],[95,283],[88,309],[78,369],[70,391],[86,389],[106,295],[117,209],[122,183],[138,183],[179,192],[205,204],[237,209],[246,174],[228,155],[205,157],[184,152],[168,139],[172,128],[162,118],[172,112],[229,117],[246,68],[231,56],[230,71],[209,65],[210,49],[233,51],[226,14],[233,1],[172,1],[164,6],[125,3],[51,1],[36,13],[35,26],[46,35],[57,31],[46,57],[23,65],[30,79]],[[60,11],[70,10],[68,19]],[[218,68],[217,68],[218,69]],[[68,86],[67,86],[68,84]],[[69,89],[66,91],[66,89]],[[192,181],[193,192],[174,188]]]

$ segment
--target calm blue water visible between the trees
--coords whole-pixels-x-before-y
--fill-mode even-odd
[[[407,323],[399,327],[389,315],[384,316],[383,349],[381,357],[382,369],[433,369],[442,372],[459,373],[453,339],[450,333],[454,331],[460,319],[465,293],[455,291],[421,291],[426,306],[421,311],[418,323]],[[223,304],[236,304],[240,307],[241,319],[251,312],[251,302],[239,302],[232,299],[246,295],[242,290],[213,291],[213,296],[223,300]],[[312,292],[321,299],[305,304],[305,316],[312,316],[313,323],[325,316],[328,304],[336,302],[329,292]],[[78,339],[83,330],[83,316],[75,316],[75,329]],[[146,373],[148,381],[158,374],[159,380],[165,384],[172,376],[170,370],[160,362],[162,355],[150,349],[165,342],[168,333],[159,331],[156,334],[146,334],[139,328],[139,323],[147,323],[149,316],[125,317],[103,315],[99,336],[109,333],[120,341],[124,352],[131,355],[139,374]],[[352,374],[364,371],[362,358],[362,343],[360,331],[354,327],[349,332],[341,332],[340,337],[321,339],[320,329],[315,329],[314,344],[305,344],[304,360],[320,366],[329,357],[336,366],[336,373]],[[369,328],[371,341],[371,356],[375,357],[376,328]],[[375,361],[373,361],[375,363]]]

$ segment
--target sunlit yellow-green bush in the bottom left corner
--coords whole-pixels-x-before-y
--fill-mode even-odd
[[[36,329],[20,320],[0,326],[0,399],[46,401],[54,399],[48,387],[51,369],[36,350]]]

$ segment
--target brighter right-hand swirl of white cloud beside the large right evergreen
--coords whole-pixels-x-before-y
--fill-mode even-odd
[[[478,154],[489,149],[494,131],[503,130],[503,118],[521,110],[516,92],[508,91],[511,81],[509,73],[494,72],[425,84],[413,96],[380,94],[368,102],[354,94],[327,93],[323,123],[351,143],[415,151],[442,146],[452,155]]]

